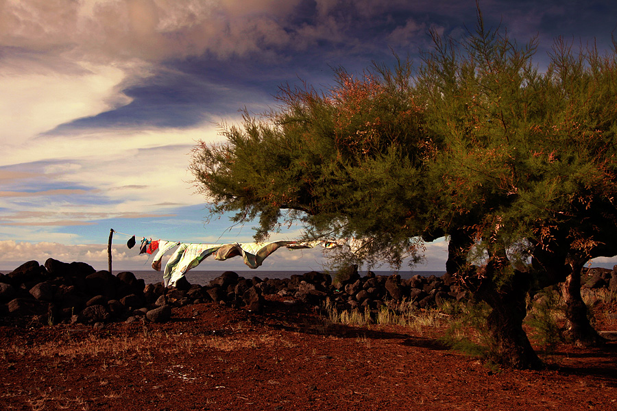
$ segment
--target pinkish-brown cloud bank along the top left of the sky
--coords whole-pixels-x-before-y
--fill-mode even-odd
[[[298,3],[8,0],[0,5],[0,42],[93,62],[246,53],[255,50],[256,39],[266,47],[289,43],[292,37],[282,27]]]

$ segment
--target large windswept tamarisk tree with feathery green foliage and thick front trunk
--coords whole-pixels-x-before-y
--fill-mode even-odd
[[[480,13],[461,43],[431,35],[417,73],[399,61],[337,69],[325,91],[282,87],[277,110],[195,147],[195,184],[213,213],[258,219],[258,240],[300,221],[311,238],[370,239],[363,262],[417,261],[447,235],[446,270],[492,308],[494,360],[537,367],[526,293],[616,253],[615,53],[574,58],[557,41],[538,73],[535,39],[519,46]],[[589,334],[579,297],[570,321]]]

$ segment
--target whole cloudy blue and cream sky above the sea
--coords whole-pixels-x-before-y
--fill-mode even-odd
[[[617,29],[612,0],[479,4],[485,25],[537,36],[540,69],[557,36],[605,51]],[[241,110],[276,108],[282,85],[327,87],[333,69],[361,73],[393,52],[418,62],[429,29],[461,38],[475,24],[470,0],[0,0],[0,271],[47,258],[106,269],[110,229],[114,269],[148,269],[132,235],[252,241],[250,224],[206,220],[188,171],[197,141],[223,141]],[[415,270],[444,271],[446,249],[428,244]],[[319,249],[282,249],[263,269],[322,262]]]

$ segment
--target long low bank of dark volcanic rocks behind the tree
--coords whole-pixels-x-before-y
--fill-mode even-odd
[[[617,290],[615,269],[589,269],[586,276],[584,288]],[[378,310],[392,300],[405,299],[418,308],[428,308],[467,297],[448,274],[401,279],[400,275],[368,272],[361,277],[357,266],[349,266],[335,279],[316,271],[285,279],[244,278],[226,271],[206,286],[182,279],[176,287],[167,288],[162,283],[145,284],[128,271],[112,275],[84,262],[53,258],[44,265],[29,261],[11,273],[0,273],[0,321],[31,326],[161,323],[171,318],[173,307],[208,301],[263,312],[270,301],[319,308],[330,299],[338,310]]]

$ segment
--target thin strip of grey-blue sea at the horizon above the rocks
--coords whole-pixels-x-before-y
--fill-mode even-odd
[[[114,270],[114,274],[121,272],[122,270]],[[126,270],[130,271],[130,270]],[[298,274],[302,275],[306,273],[306,271],[267,271],[267,270],[232,270],[237,273],[240,277],[244,278],[252,278],[259,277],[261,279],[267,278],[289,278],[291,275]],[[144,270],[144,271],[131,271],[135,277],[143,278],[145,284],[155,284],[158,282],[162,282],[162,271],[154,271],[154,270]],[[191,284],[199,284],[200,286],[206,286],[210,283],[211,280],[215,279],[219,275],[221,275],[223,271],[198,271],[191,270],[188,271],[184,276],[189,280]],[[373,271],[375,275],[392,275],[392,271]],[[366,271],[359,271],[361,277],[366,275]],[[411,278],[413,275],[422,275],[423,277],[428,277],[430,275],[436,275],[440,277],[444,275],[444,271],[399,271],[397,273],[402,278]]]

